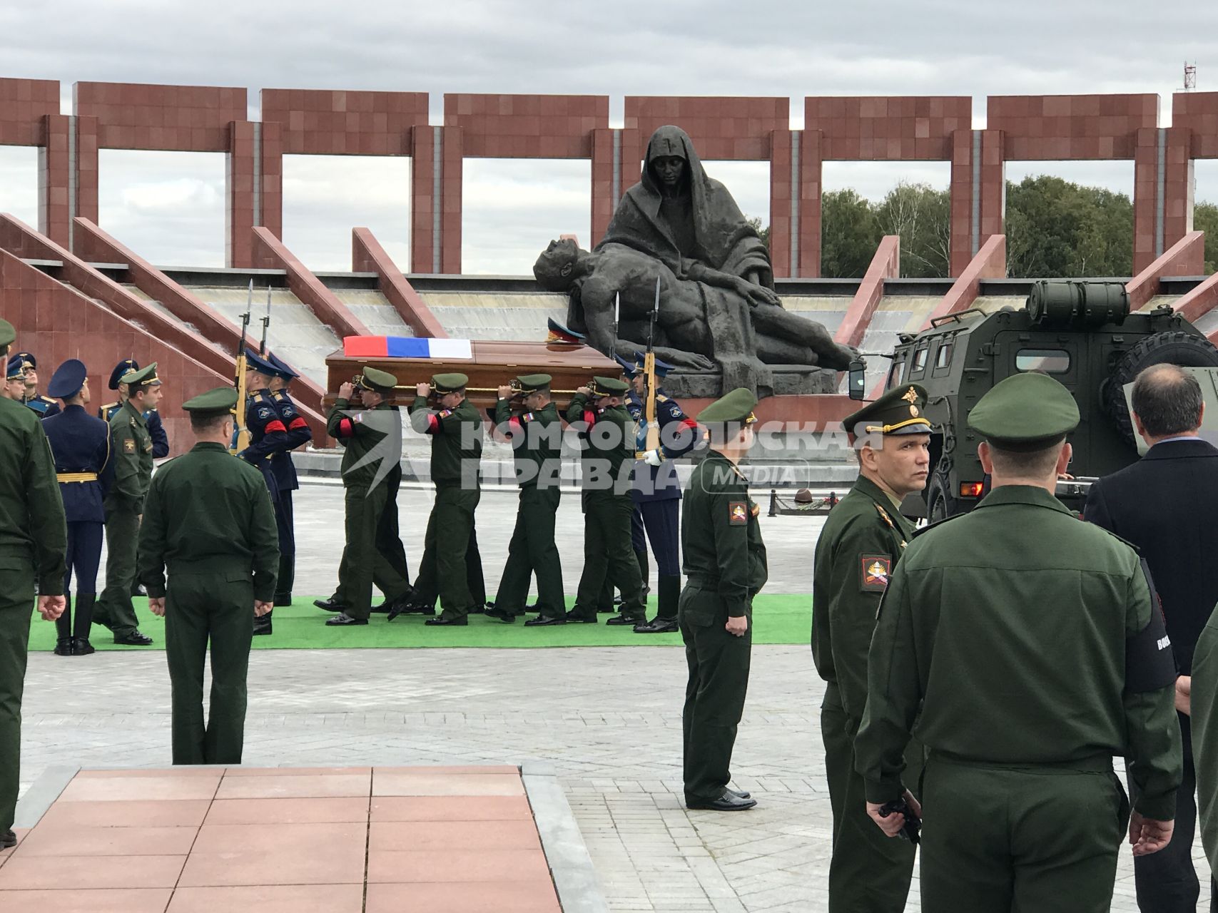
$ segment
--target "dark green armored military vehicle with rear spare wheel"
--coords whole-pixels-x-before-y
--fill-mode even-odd
[[[1061,481],[1057,494],[1082,510],[1089,480],[1138,459],[1125,394],[1138,373],[1164,362],[1218,366],[1218,351],[1172,308],[1130,313],[1122,282],[1073,280],[1038,281],[1018,310],[939,318],[922,332],[903,335],[892,358],[885,386],[914,382],[928,394],[931,477],[922,503],[911,505],[911,495],[903,510],[931,521],[972,510],[988,491],[978,437],[966,420],[1004,377],[1044,371],[1074,394],[1082,422],[1069,437],[1073,478]]]

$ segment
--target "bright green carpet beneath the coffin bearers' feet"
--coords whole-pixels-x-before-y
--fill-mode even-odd
[[[329,612],[313,605],[313,596],[297,596],[290,606],[275,609],[275,633],[253,638],[259,650],[315,650],[339,646],[417,648],[417,646],[676,646],[681,634],[636,634],[626,626],[555,624],[548,628],[526,628],[523,621],[514,624],[473,615],[464,628],[429,628],[419,615],[403,615],[392,623],[384,615],[373,615],[367,627],[330,628],[325,626]],[[574,603],[574,598],[568,598]],[[161,650],[164,648],[164,621],[147,610],[146,599],[135,600],[140,631],[153,639],[152,646],[117,646],[112,635],[94,626],[91,643],[97,650]],[[652,600],[649,615],[654,616]],[[529,616],[532,617],[532,616]],[[811,627],[811,596],[759,595],[753,603],[755,644],[806,644]],[[30,650],[55,649],[55,624],[43,621],[34,612],[29,632]]]

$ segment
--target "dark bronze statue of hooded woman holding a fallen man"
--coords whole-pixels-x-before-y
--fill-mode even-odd
[[[653,134],[642,179],[596,250],[552,241],[533,275],[570,295],[568,324],[590,346],[627,359],[647,345],[659,278],[657,357],[683,370],[717,365],[725,390],[769,387],[766,365],[845,370],[854,355],[821,324],[783,310],[765,245],[677,127]]]

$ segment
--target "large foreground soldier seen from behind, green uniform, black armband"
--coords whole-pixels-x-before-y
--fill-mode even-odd
[[[1054,497],[1079,422],[1045,374],[995,385],[968,415],[993,488],[918,531],[893,570],[867,657],[855,768],[890,838],[904,752],[926,745],[926,913],[1100,913],[1129,803],[1134,856],[1167,846],[1183,772],[1175,662],[1145,565]]]

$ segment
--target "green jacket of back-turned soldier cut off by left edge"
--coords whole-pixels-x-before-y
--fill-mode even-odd
[[[67,523],[55,458],[39,418],[0,399],[0,567],[32,566],[38,592],[63,594]]]

